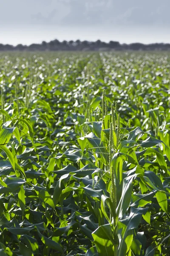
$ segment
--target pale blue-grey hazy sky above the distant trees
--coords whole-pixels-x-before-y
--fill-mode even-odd
[[[0,0],[0,43],[170,43],[170,0]]]

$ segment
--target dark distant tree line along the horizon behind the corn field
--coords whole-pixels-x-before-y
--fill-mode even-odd
[[[13,46],[10,44],[0,44],[0,51],[122,51],[122,50],[136,50],[136,51],[150,51],[150,50],[170,50],[170,44],[120,44],[117,41],[110,41],[109,43],[97,40],[92,41],[62,41],[55,39],[50,42],[43,41],[41,44],[30,44],[29,46],[18,44]]]

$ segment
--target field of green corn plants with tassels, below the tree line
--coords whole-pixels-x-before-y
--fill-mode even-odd
[[[0,255],[170,255],[169,68],[0,55]]]

